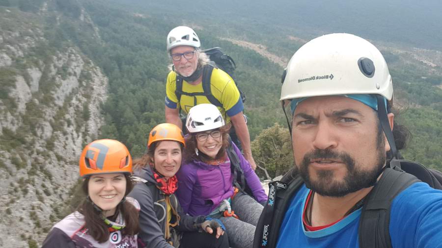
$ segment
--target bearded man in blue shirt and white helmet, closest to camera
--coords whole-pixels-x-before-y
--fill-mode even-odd
[[[384,57],[358,36],[324,35],[293,55],[281,100],[295,166],[270,183],[253,247],[441,246],[442,191],[388,160],[392,97]]]

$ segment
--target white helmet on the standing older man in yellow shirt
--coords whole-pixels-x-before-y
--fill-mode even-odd
[[[198,35],[195,31],[188,26],[177,26],[170,30],[167,35],[167,51],[178,46],[191,46],[199,48],[201,43],[199,42]]]

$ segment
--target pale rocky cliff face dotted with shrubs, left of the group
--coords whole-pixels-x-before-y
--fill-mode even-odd
[[[0,7],[0,22],[0,247],[35,247],[64,214],[108,79],[74,46],[41,53],[38,17]]]

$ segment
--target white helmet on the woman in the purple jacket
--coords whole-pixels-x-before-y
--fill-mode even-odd
[[[224,119],[218,108],[210,103],[193,106],[187,115],[186,128],[189,133],[203,132],[223,126]]]

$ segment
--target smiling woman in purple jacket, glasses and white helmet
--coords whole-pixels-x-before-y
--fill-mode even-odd
[[[235,144],[229,142],[228,129],[215,105],[198,104],[186,121],[184,164],[177,173],[176,195],[191,216],[219,218],[226,227],[229,245],[248,248],[267,196],[258,176]],[[252,196],[233,186],[227,148],[233,146]]]

